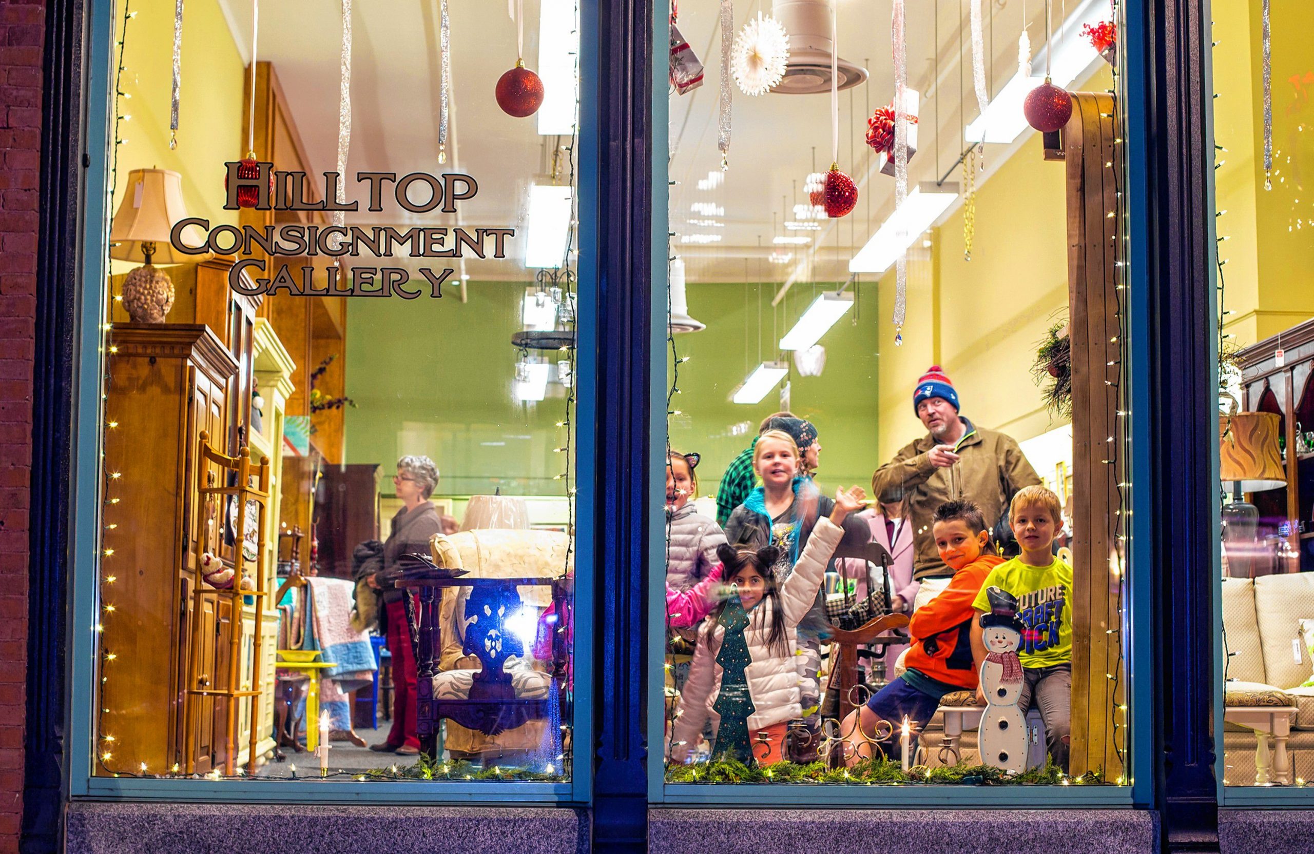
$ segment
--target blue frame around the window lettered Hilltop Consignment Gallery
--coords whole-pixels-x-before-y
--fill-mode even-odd
[[[314,780],[204,780],[129,779],[92,776],[93,679],[96,640],[92,627],[97,611],[100,532],[100,435],[101,365],[104,330],[104,282],[106,271],[105,223],[112,215],[108,198],[110,99],[114,38],[113,0],[91,0],[88,12],[84,145],[87,168],[83,200],[83,269],[78,280],[79,339],[75,355],[74,465],[70,502],[70,698],[66,719],[68,738],[67,791],[74,799],[126,799],[138,801],[225,803],[373,803],[373,804],[506,804],[578,805],[589,803],[593,790],[593,621],[594,595],[594,498],[577,493],[576,506],[576,628],[574,628],[574,737],[573,778],[566,783],[531,782],[389,782],[356,783]],[[598,0],[581,0],[579,158],[578,219],[579,265],[577,293],[582,306],[597,300],[598,222]],[[99,200],[99,204],[93,200]],[[576,386],[576,482],[594,480],[597,435],[597,330],[593,311],[578,313]]]

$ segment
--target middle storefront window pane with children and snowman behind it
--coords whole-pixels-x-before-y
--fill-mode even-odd
[[[1125,786],[1121,12],[890,9],[673,4],[665,782]]]

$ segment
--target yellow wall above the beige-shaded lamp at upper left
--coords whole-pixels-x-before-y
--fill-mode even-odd
[[[235,210],[223,210],[223,163],[240,158],[243,76],[246,66],[229,33],[217,0],[189,0],[183,17],[183,87],[177,147],[170,150],[173,3],[135,0],[126,26],[120,99],[114,210],[124,200],[127,173],[137,168],[175,169],[183,176],[188,214],[210,225],[237,225]],[[122,5],[116,18],[122,29]],[[116,58],[118,46],[114,46]],[[135,264],[124,264],[125,271]],[[116,272],[122,272],[116,267]]]

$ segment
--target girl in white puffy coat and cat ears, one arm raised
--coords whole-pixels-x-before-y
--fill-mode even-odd
[[[799,691],[798,624],[816,602],[825,566],[844,536],[844,520],[862,510],[858,486],[836,493],[829,519],[817,520],[794,573],[777,583],[775,547],[717,549],[728,596],[699,632],[694,663],[679,699],[671,759],[687,762],[708,716],[716,755],[771,765],[783,758],[788,721],[803,716]]]

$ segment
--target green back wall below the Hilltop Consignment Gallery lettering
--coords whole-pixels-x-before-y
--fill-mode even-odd
[[[352,300],[347,311],[347,462],[438,462],[443,494],[560,495],[565,398],[511,399],[524,282],[470,282],[469,302]],[[549,385],[549,389],[552,386]],[[560,388],[560,386],[557,386]],[[390,491],[389,486],[384,486]]]

